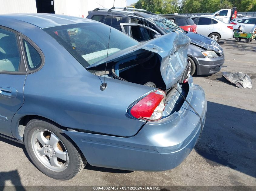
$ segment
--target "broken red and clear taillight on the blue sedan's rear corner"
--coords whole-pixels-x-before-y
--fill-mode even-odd
[[[156,121],[161,119],[164,109],[165,92],[158,89],[139,100],[130,112],[137,119]]]

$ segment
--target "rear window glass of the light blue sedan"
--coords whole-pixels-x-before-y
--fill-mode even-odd
[[[126,34],[102,23],[80,23],[51,27],[44,29],[46,33],[57,40],[85,68],[108,55],[123,49],[138,45],[139,42]],[[104,61],[102,61],[104,62]]]

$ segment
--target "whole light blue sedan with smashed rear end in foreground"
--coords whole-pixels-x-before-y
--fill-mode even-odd
[[[140,44],[114,28],[108,41],[109,26],[65,15],[0,22],[0,135],[25,144],[47,176],[71,179],[87,162],[168,170],[194,148],[206,100],[184,34]]]

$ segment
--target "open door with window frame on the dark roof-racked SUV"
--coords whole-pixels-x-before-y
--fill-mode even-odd
[[[123,33],[128,34],[130,37],[141,43],[161,36],[156,30],[142,24],[121,23],[120,25]]]

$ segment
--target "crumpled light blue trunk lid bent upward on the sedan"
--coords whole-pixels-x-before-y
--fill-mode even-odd
[[[160,72],[166,88],[171,88],[182,77],[187,66],[187,51],[190,39],[183,33],[171,32],[161,37],[141,43],[137,46],[121,50],[108,56],[108,63],[127,62],[136,58],[136,55],[152,52],[158,55],[161,62]],[[106,58],[87,67],[89,70],[105,64]]]

